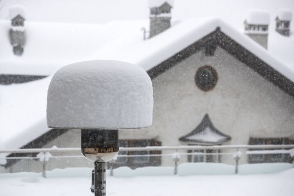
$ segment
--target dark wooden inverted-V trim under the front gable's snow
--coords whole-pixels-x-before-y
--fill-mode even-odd
[[[154,79],[169,68],[177,65],[179,62],[200,50],[205,50],[205,52],[208,53],[206,55],[214,55],[215,45],[230,53],[233,57],[246,64],[262,77],[272,82],[274,85],[278,86],[281,90],[294,98],[294,83],[291,80],[263,62],[253,53],[237,43],[237,41],[221,32],[219,27],[217,27],[212,33],[187,46],[184,50],[148,70],[147,73],[151,79]]]

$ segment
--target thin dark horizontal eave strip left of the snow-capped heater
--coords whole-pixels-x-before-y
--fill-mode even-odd
[[[1,74],[0,84],[17,84],[42,79],[46,76]]]

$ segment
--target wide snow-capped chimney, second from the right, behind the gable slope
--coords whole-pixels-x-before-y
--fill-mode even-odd
[[[244,33],[267,48],[270,15],[262,10],[250,10],[244,21]]]

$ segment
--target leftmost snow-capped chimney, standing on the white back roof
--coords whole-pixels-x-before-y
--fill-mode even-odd
[[[9,31],[10,43],[13,46],[13,53],[21,56],[25,45],[25,9],[21,6],[13,6],[9,10],[9,18],[11,20],[11,28]]]

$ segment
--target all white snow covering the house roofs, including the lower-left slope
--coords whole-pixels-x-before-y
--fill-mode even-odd
[[[15,56],[9,43],[9,21],[0,21],[1,74],[49,75],[58,68],[85,60],[117,60],[148,71],[188,45],[220,30],[262,61],[294,82],[293,36],[269,41],[269,51],[220,19],[186,19],[143,41],[142,26],[148,21],[115,21],[108,24],[64,24],[27,22],[23,56]],[[48,33],[50,32],[50,33]],[[284,47],[278,51],[276,46]],[[276,49],[276,53],[272,53]],[[282,55],[288,55],[287,63]],[[275,58],[277,56],[277,58]],[[20,148],[49,129],[46,126],[46,94],[51,77],[24,84],[0,86],[0,148]]]

